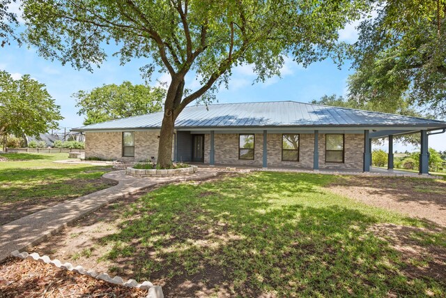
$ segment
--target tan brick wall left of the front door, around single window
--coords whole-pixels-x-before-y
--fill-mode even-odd
[[[122,132],[85,133],[85,157],[99,157],[117,161],[144,161],[158,156],[160,131],[134,132],[134,157],[123,157]],[[172,142],[172,158],[174,157]]]

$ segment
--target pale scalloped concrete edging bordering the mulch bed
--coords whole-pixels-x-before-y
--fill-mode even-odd
[[[38,253],[27,253],[23,251],[20,253],[19,251],[13,251],[11,255],[15,258],[20,259],[28,259],[28,260],[36,260],[38,262],[42,262],[45,264],[53,265],[54,267],[65,269],[67,271],[73,271],[77,274],[88,275],[95,279],[100,279],[102,281],[106,281],[107,283],[113,283],[115,285],[123,285],[128,288],[138,288],[141,290],[147,290],[147,298],[164,298],[164,294],[162,293],[162,288],[160,285],[153,285],[150,281],[144,281],[143,283],[137,283],[134,279],[129,279],[128,281],[123,280],[120,276],[114,276],[114,278],[110,277],[107,273],[102,272],[98,274],[98,272],[94,270],[86,270],[82,266],[73,267],[71,263],[66,262],[64,264],[61,261],[54,259],[51,260],[47,255],[43,255],[40,257]]]

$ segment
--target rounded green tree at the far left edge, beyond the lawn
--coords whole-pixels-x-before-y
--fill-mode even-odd
[[[63,119],[59,109],[44,84],[29,75],[14,80],[6,71],[0,71],[0,135],[46,133]]]

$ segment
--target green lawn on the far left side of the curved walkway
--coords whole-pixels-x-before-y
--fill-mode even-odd
[[[109,167],[53,163],[68,154],[0,154],[0,225],[70,198],[109,187]],[[18,217],[17,217],[18,216]]]

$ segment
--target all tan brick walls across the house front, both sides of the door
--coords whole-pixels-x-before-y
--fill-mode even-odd
[[[143,161],[151,156],[157,159],[159,131],[136,131],[134,133],[134,158],[122,156],[122,133],[86,133],[85,156],[116,159],[118,161]],[[215,163],[220,165],[263,164],[263,134],[254,135],[254,160],[238,159],[238,134],[214,135]],[[282,161],[282,133],[268,133],[268,167],[298,167],[312,169],[314,135],[300,133],[299,161]],[[319,168],[362,170],[364,135],[346,134],[344,140],[344,163],[325,163],[325,134],[319,134]],[[204,163],[209,163],[210,134],[204,135]],[[174,149],[172,149],[174,158]]]

